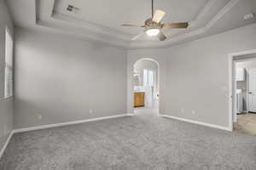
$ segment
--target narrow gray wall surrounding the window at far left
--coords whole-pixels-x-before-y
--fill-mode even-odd
[[[0,0],[0,150],[13,129],[12,99],[4,100],[5,26],[13,33],[13,23],[3,0]]]

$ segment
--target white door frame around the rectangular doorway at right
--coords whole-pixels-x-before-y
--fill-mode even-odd
[[[229,54],[229,127],[233,130],[233,122],[236,122],[236,60],[235,57],[246,54],[256,54],[256,49]],[[246,60],[246,59],[245,59]]]

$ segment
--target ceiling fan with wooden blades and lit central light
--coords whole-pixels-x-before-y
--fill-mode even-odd
[[[131,25],[131,24],[123,24],[122,26],[135,26],[135,27],[143,27],[144,31],[138,34],[136,37],[131,38],[131,40],[136,40],[137,37],[140,37],[144,32],[148,34],[149,37],[158,37],[160,41],[166,40],[165,34],[161,31],[164,28],[173,29],[173,28],[187,28],[189,26],[188,22],[177,22],[170,24],[161,24],[160,21],[166,14],[162,10],[154,11],[154,0],[152,0],[152,17],[145,21],[143,26]]]

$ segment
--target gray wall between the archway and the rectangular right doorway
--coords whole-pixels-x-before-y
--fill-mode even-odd
[[[256,25],[169,48],[165,113],[229,127],[229,54],[253,48]]]

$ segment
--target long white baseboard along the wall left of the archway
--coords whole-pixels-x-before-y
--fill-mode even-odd
[[[95,122],[95,121],[113,119],[113,118],[123,117],[123,116],[130,116],[130,115],[123,114],[123,115],[114,115],[114,116],[102,116],[102,117],[84,119],[84,120],[73,121],[73,122],[59,122],[59,123],[55,123],[55,124],[48,124],[48,125],[42,125],[42,126],[36,126],[36,127],[18,128],[18,129],[14,129],[14,133],[24,133],[24,132],[28,132],[28,131],[50,128],[50,127],[62,127],[62,126],[67,126],[67,125],[79,124],[79,123],[83,123],[83,122]]]

